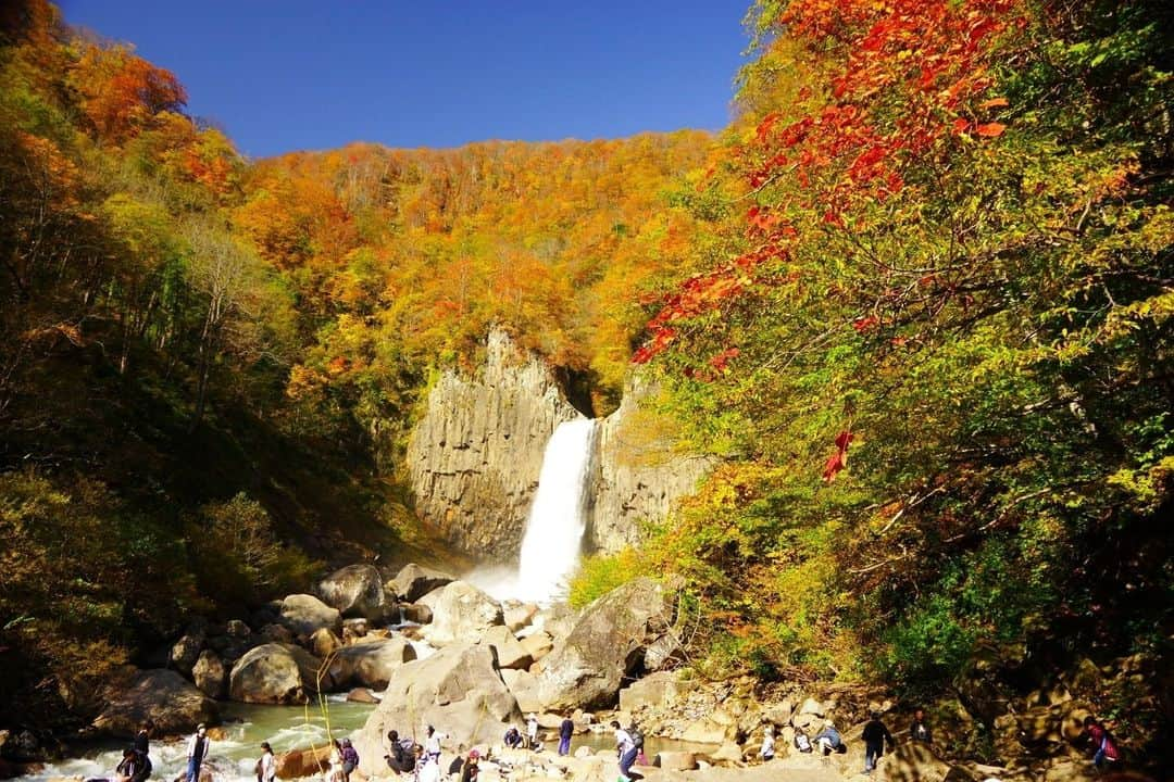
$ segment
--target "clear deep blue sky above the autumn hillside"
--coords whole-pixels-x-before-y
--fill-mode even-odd
[[[61,0],[252,157],[718,129],[749,0]]]

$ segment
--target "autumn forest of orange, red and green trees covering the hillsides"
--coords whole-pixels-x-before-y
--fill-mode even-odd
[[[596,414],[634,363],[721,457],[573,594],[684,577],[699,671],[971,713],[1082,657],[1168,676],[1168,4],[762,0],[717,137],[259,162],[2,13],[7,702],[83,714],[184,612],[411,545],[404,434],[491,324]],[[1160,747],[1168,692],[1097,706]]]

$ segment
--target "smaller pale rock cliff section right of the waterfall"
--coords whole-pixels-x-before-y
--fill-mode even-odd
[[[640,539],[642,521],[661,521],[694,492],[715,460],[682,453],[676,428],[647,402],[655,389],[634,376],[623,401],[600,424],[599,472],[586,546],[615,552]]]

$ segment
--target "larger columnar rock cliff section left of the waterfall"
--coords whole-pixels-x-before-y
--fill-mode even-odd
[[[492,332],[477,375],[445,372],[412,433],[417,512],[459,549],[506,559],[521,545],[546,441],[581,415],[546,365]]]

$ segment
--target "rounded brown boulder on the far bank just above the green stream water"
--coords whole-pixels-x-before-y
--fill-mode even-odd
[[[292,644],[265,644],[237,660],[229,674],[229,696],[245,703],[305,703],[333,688],[322,660]],[[319,675],[321,687],[319,687]]]

